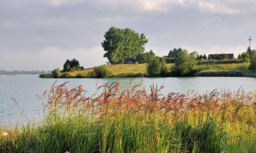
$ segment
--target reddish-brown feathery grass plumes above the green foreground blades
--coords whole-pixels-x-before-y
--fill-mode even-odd
[[[53,84],[44,92],[48,98],[46,108],[49,114],[61,109],[63,112],[78,111],[86,116],[104,118],[135,112],[145,115],[161,112],[166,116],[184,116],[186,112],[203,112],[209,117],[220,116],[222,122],[242,122],[240,112],[246,107],[254,107],[256,114],[256,95],[239,90],[238,92],[212,92],[198,95],[169,93],[161,95],[163,86],[150,86],[150,93],[141,87],[141,82],[131,88],[120,88],[119,82],[107,82],[97,87],[97,92],[85,96],[83,86],[68,90],[64,84]]]

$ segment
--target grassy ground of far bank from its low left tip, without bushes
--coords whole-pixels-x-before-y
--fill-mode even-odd
[[[247,70],[249,63],[231,63],[231,64],[207,64],[197,65],[195,71],[212,71],[212,70]],[[148,76],[147,64],[124,64],[124,65],[104,65],[111,72],[109,78],[133,78]],[[167,64],[167,68],[171,71],[173,64]],[[70,71],[61,73],[59,78],[95,78],[93,75],[94,68],[84,69],[82,71]],[[42,74],[40,78],[53,78],[52,74]]]

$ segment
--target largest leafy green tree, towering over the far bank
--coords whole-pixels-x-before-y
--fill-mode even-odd
[[[111,27],[104,34],[102,47],[106,52],[104,57],[111,64],[124,63],[124,58],[137,58],[145,51],[147,39],[143,33],[139,34],[132,29]]]

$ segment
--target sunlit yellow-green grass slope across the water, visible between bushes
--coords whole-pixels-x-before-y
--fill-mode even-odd
[[[167,64],[167,67],[170,69],[173,64]],[[136,74],[147,74],[147,65],[146,64],[133,64],[133,65],[105,65],[106,69],[109,69],[113,73],[113,76],[125,76],[125,75],[136,75]],[[238,69],[247,69],[247,63],[238,63],[238,64],[223,64],[223,65],[198,65],[195,69],[197,71],[206,71],[206,70],[238,70]],[[69,75],[75,77],[77,74],[82,74],[84,76],[88,75],[93,68],[85,69],[83,71],[72,71],[69,72]]]

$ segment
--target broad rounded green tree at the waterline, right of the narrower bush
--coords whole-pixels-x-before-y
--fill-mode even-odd
[[[195,56],[188,54],[187,50],[182,50],[177,54],[173,72],[178,76],[186,76],[195,67]]]

